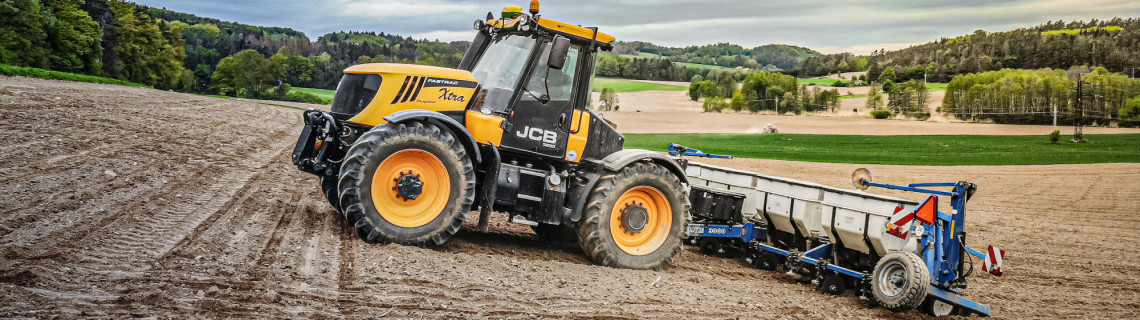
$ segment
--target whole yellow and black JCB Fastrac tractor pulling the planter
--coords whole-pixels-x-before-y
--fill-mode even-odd
[[[690,221],[682,164],[624,149],[588,108],[614,38],[542,17],[537,1],[474,28],[456,69],[345,69],[332,112],[304,113],[293,162],[367,241],[439,245],[470,211],[483,230],[496,211],[603,265],[669,263]]]

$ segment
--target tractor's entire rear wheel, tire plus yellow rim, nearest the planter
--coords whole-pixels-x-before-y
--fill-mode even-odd
[[[597,264],[660,270],[681,252],[689,207],[681,179],[660,165],[636,163],[597,181],[578,223],[578,244]]]

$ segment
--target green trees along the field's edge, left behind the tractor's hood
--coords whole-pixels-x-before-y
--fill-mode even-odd
[[[342,71],[359,63],[455,67],[470,46],[374,32],[310,41],[292,28],[117,0],[0,1],[0,64],[195,93],[280,99],[287,85],[335,89]]]

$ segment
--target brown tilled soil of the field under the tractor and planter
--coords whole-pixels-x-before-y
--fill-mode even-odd
[[[432,249],[365,244],[292,165],[295,109],[2,76],[0,106],[0,318],[925,318],[693,248],[597,266],[503,215]],[[832,186],[855,167],[716,163]],[[1138,317],[1140,165],[871,169],[980,184],[970,243],[1003,246],[1007,276],[968,295],[997,317]]]

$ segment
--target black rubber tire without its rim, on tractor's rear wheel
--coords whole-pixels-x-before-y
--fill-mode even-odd
[[[619,198],[634,188],[650,187],[660,191],[670,207],[670,228],[666,238],[652,252],[633,255],[617,244],[610,231],[611,214]],[[689,190],[681,179],[669,170],[654,163],[636,163],[618,172],[603,175],[586,198],[583,219],[578,222],[578,245],[595,263],[624,269],[660,270],[673,264],[673,257],[682,249],[685,225],[692,221],[689,215]]]

